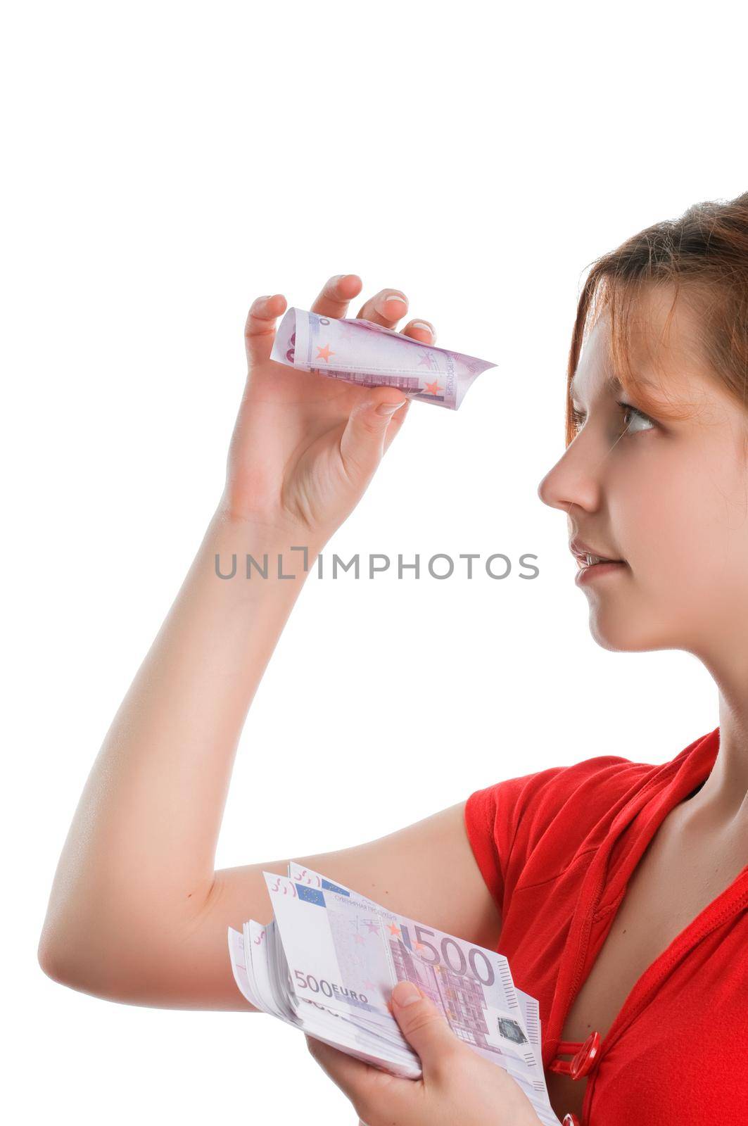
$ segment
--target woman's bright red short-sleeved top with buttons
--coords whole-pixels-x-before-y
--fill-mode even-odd
[[[719,742],[715,727],[662,766],[603,754],[468,798],[498,950],[540,1002],[545,1070],[581,1047],[560,1039],[566,1015],[640,857]],[[748,1123],[748,864],[635,983],[587,1079],[581,1126]]]

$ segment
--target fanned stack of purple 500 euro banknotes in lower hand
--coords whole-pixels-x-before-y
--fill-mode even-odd
[[[229,928],[237,985],[256,1009],[394,1075],[418,1079],[420,1060],[388,1008],[398,981],[415,982],[452,1030],[498,1064],[546,1126],[537,1001],[509,963],[481,946],[416,922],[310,868],[265,872],[274,919]]]

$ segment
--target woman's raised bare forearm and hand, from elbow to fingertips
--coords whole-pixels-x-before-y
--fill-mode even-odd
[[[359,291],[356,275],[333,278],[311,307],[345,316]],[[358,315],[394,328],[407,305],[388,302],[390,293]],[[87,992],[180,1003],[193,937],[223,886],[214,857],[239,736],[305,579],[304,553],[292,548],[306,547],[311,568],[408,411],[393,387],[273,363],[285,307],[276,294],[250,310],[224,492],[106,734],[60,857],[38,957],[50,976]],[[430,339],[412,324],[404,331]],[[381,404],[404,405],[392,415]],[[267,579],[242,577],[248,553],[260,564],[267,553]],[[225,574],[234,554],[237,577],[219,578],[215,556]],[[278,554],[293,579],[278,578]]]

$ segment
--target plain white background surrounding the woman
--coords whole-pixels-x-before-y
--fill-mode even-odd
[[[36,960],[83,783],[217,502],[259,294],[309,309],[356,272],[349,315],[393,286],[438,346],[498,365],[456,413],[412,404],[326,554],[515,566],[308,581],[244,727],[219,867],[372,840],[595,754],[662,762],[716,726],[692,656],[595,644],[566,516],[536,490],[563,453],[587,266],[746,189],[745,33],[720,3],[131,0],[6,17],[15,1121],[356,1118],[269,1017],[115,1004]]]

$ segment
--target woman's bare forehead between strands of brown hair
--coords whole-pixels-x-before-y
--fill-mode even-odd
[[[666,394],[669,401],[688,397],[695,388],[704,392],[706,361],[698,319],[686,302],[675,301],[671,287],[645,289],[632,304],[627,325],[634,387],[642,384],[648,395]],[[622,390],[611,354],[609,314],[604,311],[587,336],[569,392],[578,400]]]

